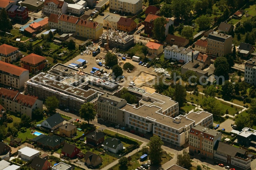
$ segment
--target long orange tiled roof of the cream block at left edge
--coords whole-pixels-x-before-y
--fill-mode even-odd
[[[15,66],[13,64],[5,63],[3,61],[0,61],[0,70],[14,74],[16,76],[20,76],[24,71],[28,71],[27,69]]]

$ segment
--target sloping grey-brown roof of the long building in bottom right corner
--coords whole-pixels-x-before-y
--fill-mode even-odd
[[[218,152],[221,152],[221,153],[225,153],[225,154],[230,155],[230,156],[236,156],[237,153],[245,155],[246,152],[247,152],[244,149],[233,147],[233,146],[231,146],[229,144],[226,144],[226,143],[223,143],[219,140],[214,145],[214,150],[216,150]]]

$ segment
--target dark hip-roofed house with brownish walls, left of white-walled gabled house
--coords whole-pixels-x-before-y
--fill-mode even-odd
[[[103,133],[94,131],[86,135],[86,143],[89,145],[93,145],[94,147],[101,145],[104,142],[104,140],[105,135]]]

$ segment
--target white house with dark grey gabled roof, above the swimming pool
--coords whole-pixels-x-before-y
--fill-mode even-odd
[[[50,130],[55,130],[58,127],[62,126],[64,122],[63,117],[59,113],[55,113],[51,117],[48,117],[45,119],[42,123],[41,126]]]

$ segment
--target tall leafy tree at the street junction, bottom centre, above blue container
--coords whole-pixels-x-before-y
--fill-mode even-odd
[[[149,147],[149,154],[151,163],[154,165],[159,165],[161,163],[162,151],[161,148],[164,142],[159,138],[159,136],[153,136],[150,138],[147,146]]]

